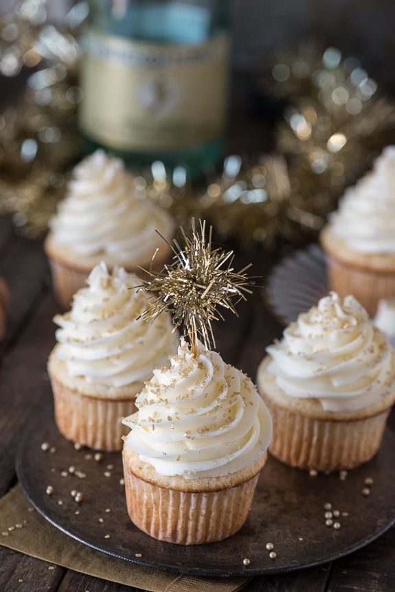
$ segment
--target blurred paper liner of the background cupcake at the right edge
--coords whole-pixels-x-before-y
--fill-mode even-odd
[[[352,294],[373,316],[381,298],[395,296],[395,274],[369,271],[328,257],[330,289],[339,296]]]

